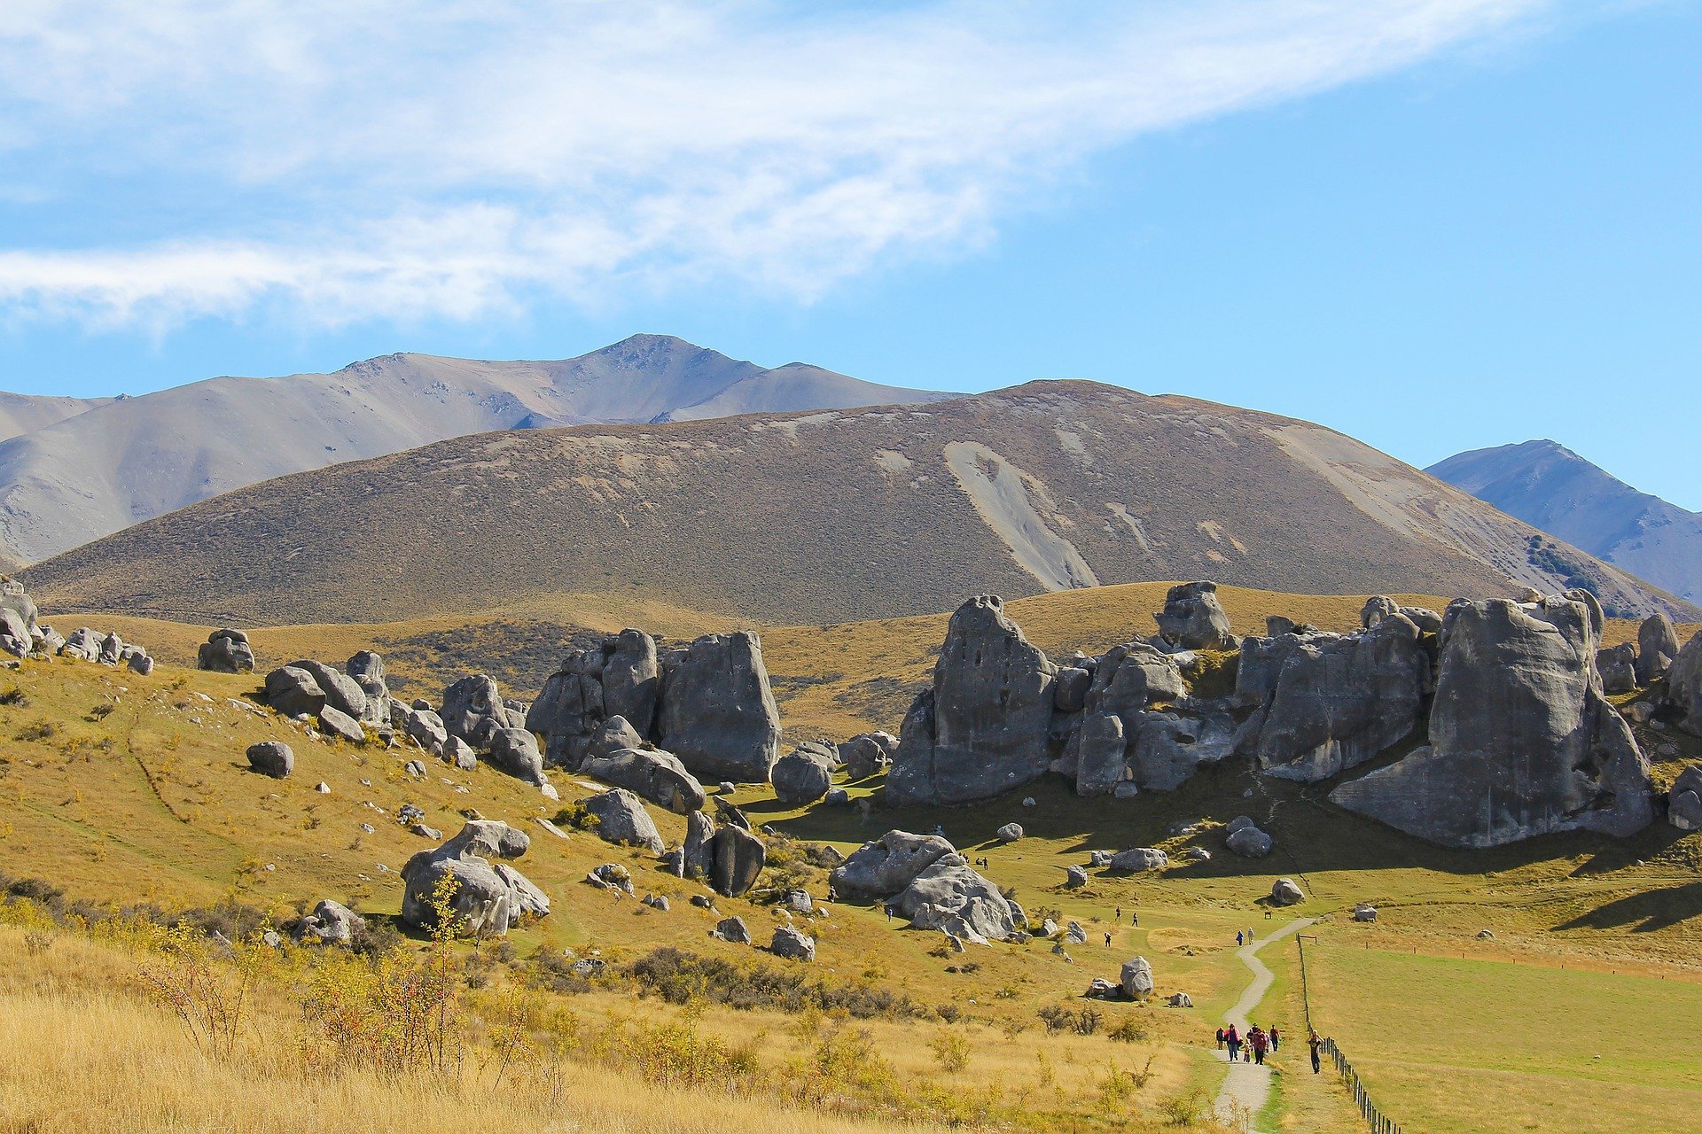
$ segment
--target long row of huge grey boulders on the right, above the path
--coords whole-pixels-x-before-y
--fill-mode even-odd
[[[1353,632],[1273,617],[1239,643],[1215,592],[1173,587],[1154,638],[1062,661],[997,597],[965,602],[905,714],[887,801],[977,802],[1047,772],[1082,796],[1173,791],[1231,755],[1321,782],[1404,751],[1331,799],[1430,842],[1493,847],[1653,819],[1649,763],[1610,690],[1665,678],[1661,700],[1702,734],[1702,636],[1680,649],[1656,615],[1636,648],[1600,649],[1603,612],[1585,590],[1442,614],[1374,597]],[[1236,651],[1232,692],[1197,692],[1207,651]],[[1271,836],[1242,816],[1227,847],[1258,857]]]

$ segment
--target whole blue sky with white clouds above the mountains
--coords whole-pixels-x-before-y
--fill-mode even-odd
[[[9,0],[0,389],[674,333],[1702,510],[1702,3]]]

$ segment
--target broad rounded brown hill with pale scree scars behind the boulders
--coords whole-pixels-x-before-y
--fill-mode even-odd
[[[616,592],[846,622],[1140,580],[1499,595],[1569,576],[1620,612],[1699,617],[1341,434],[1081,381],[460,437],[254,485],[27,571],[49,609],[250,626]]]

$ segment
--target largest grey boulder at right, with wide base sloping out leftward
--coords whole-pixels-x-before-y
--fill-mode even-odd
[[[1430,746],[1329,797],[1443,847],[1642,830],[1654,816],[1649,765],[1602,694],[1602,624],[1579,590],[1450,604]]]

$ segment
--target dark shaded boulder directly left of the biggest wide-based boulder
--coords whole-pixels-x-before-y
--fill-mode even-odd
[[[1268,680],[1270,668],[1259,666],[1280,655],[1270,695],[1242,733],[1266,775],[1316,784],[1419,728],[1431,661],[1418,626],[1399,610],[1356,634],[1282,634],[1248,644],[1258,665],[1246,680],[1237,675],[1242,702]]]

